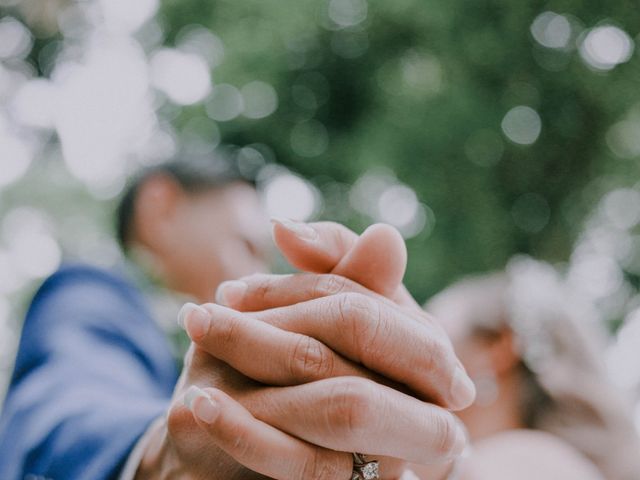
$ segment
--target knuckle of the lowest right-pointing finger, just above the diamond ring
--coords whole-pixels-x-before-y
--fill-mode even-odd
[[[346,438],[360,437],[374,415],[376,392],[373,382],[345,377],[329,389],[327,424],[336,435]]]

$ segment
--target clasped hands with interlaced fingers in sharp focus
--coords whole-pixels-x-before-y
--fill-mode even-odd
[[[397,233],[279,223],[275,238],[295,266],[332,273],[254,275],[185,306],[193,344],[138,478],[348,480],[357,451],[395,479],[459,455],[450,410],[473,384],[402,287]]]

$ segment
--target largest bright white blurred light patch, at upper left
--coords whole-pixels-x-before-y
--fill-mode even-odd
[[[155,115],[144,53],[131,40],[93,39],[85,62],[54,71],[56,130],[71,173],[96,190],[122,183]]]

